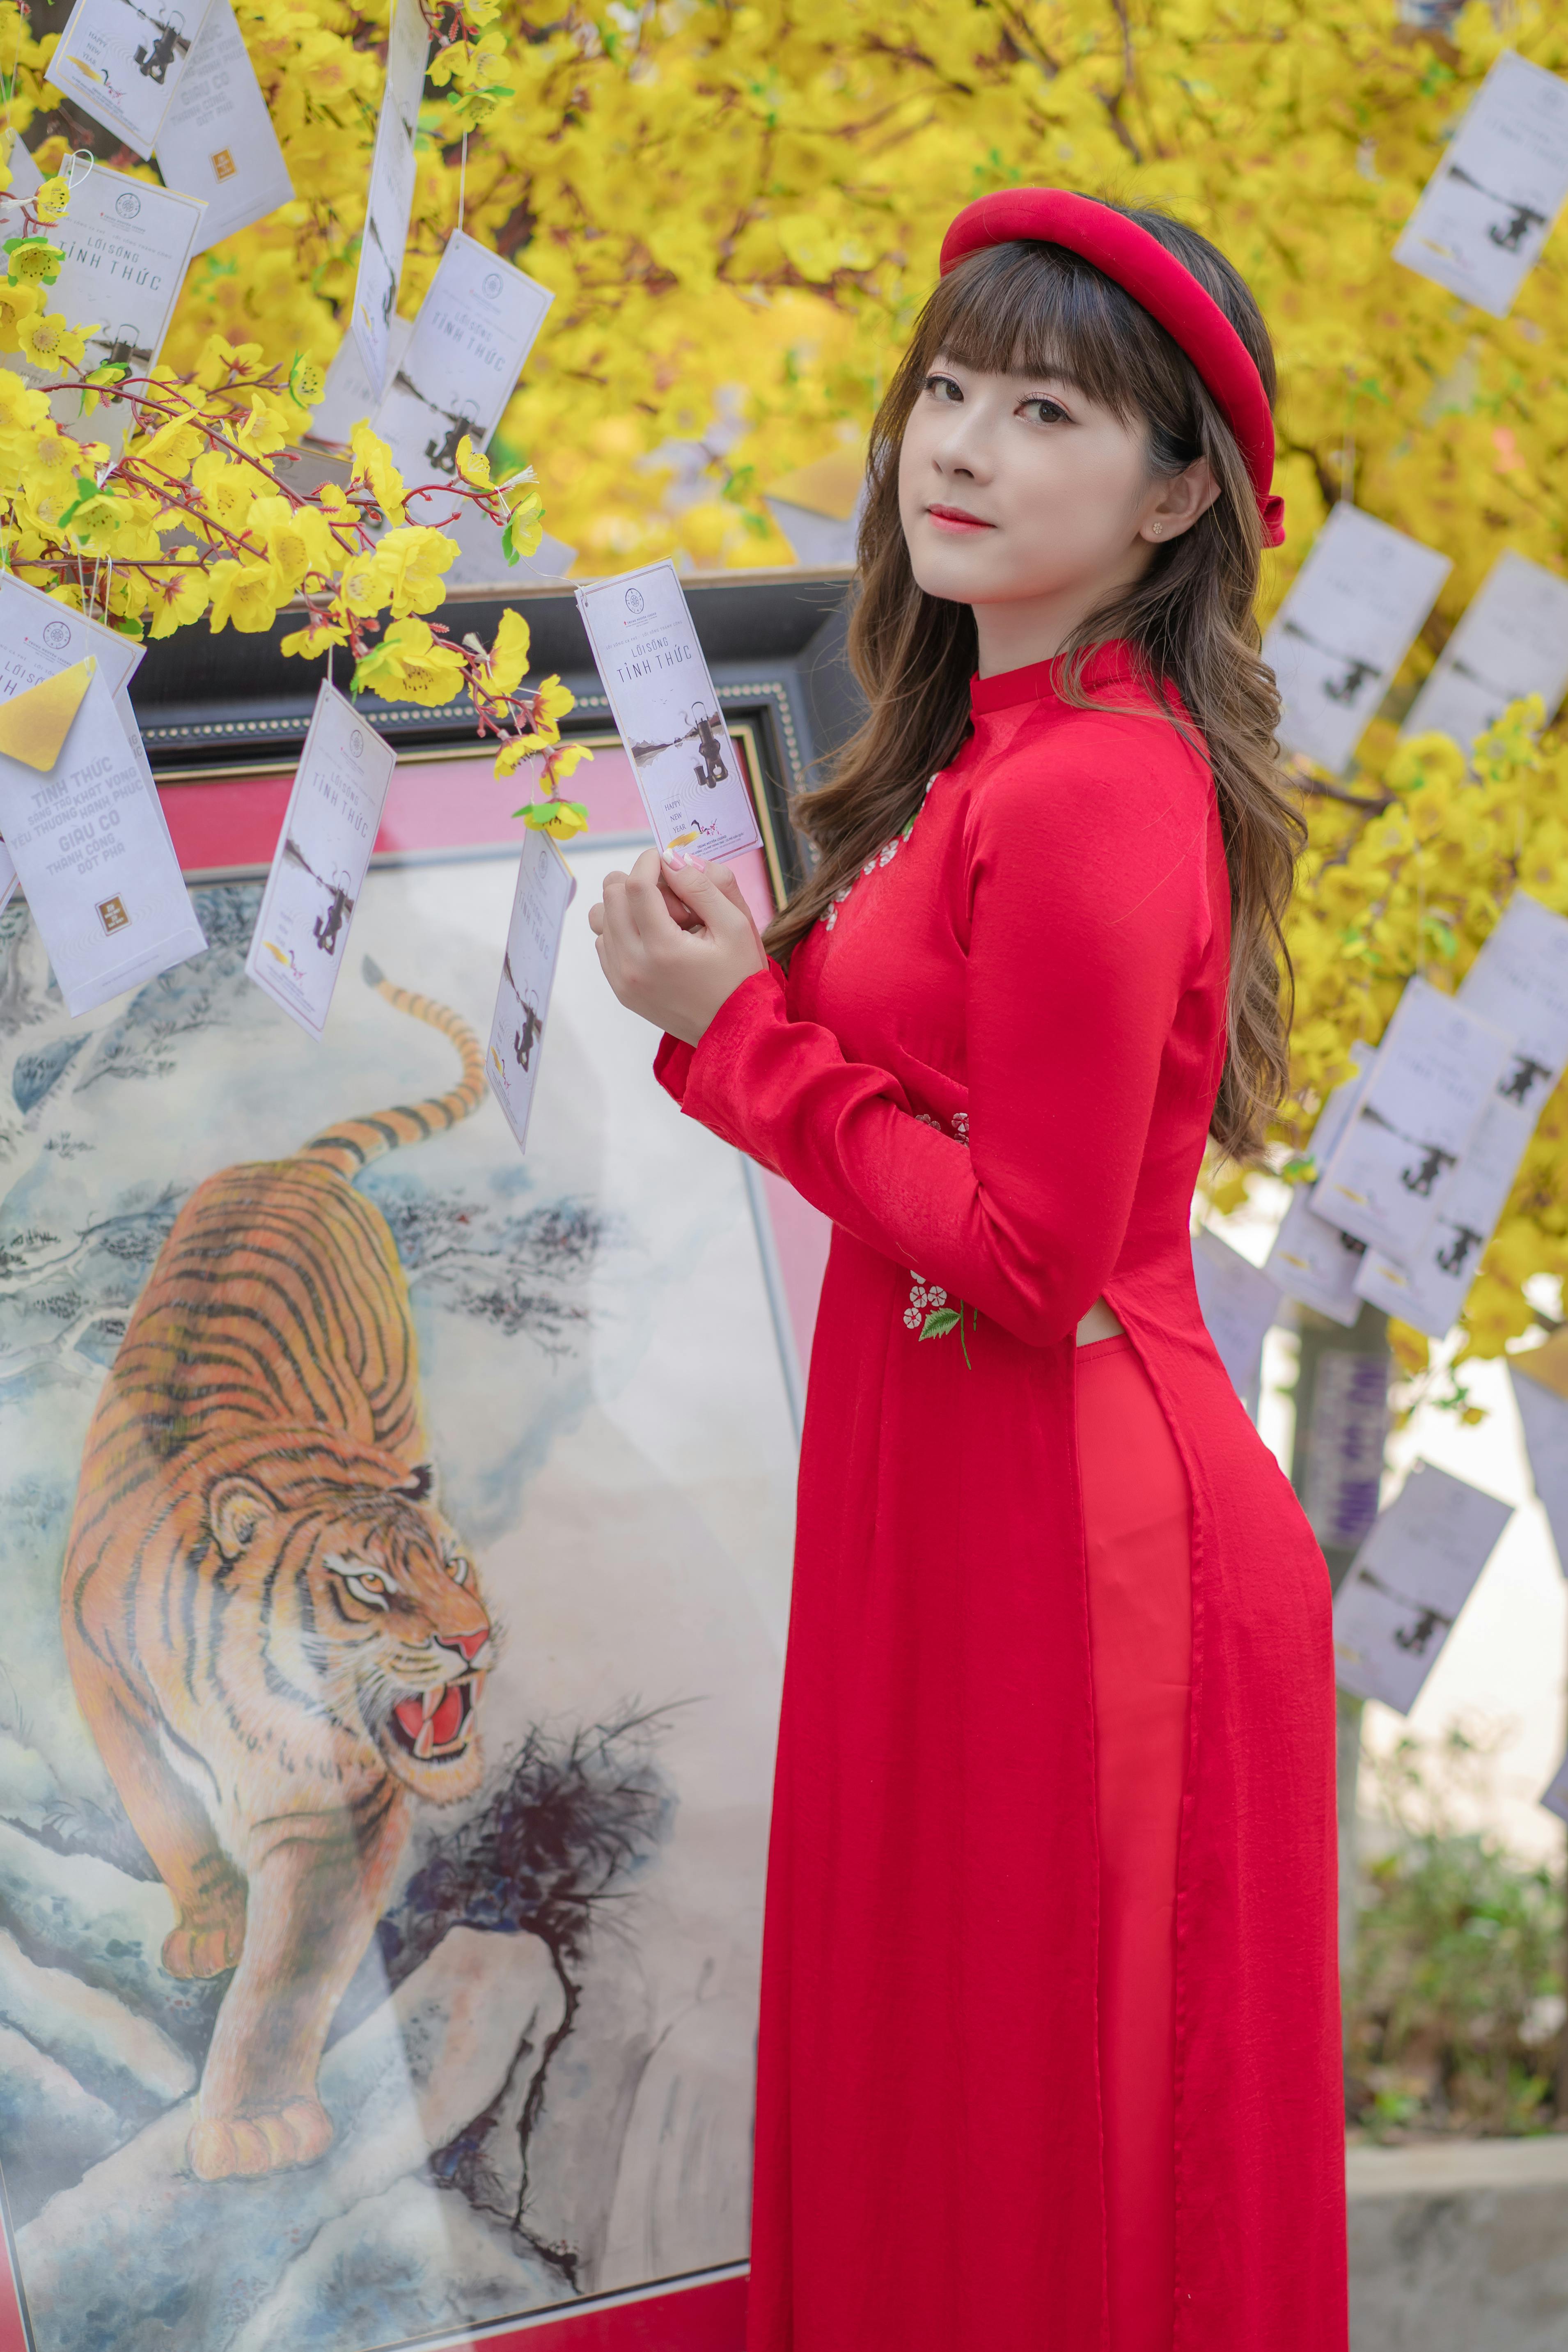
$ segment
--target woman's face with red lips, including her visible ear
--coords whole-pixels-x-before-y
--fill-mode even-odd
[[[1215,496],[1204,459],[1152,477],[1145,426],[1060,376],[990,376],[943,355],[898,454],[914,579],[926,595],[976,607],[983,670],[997,666],[985,659],[987,623],[1011,637],[1034,623],[1060,644]]]

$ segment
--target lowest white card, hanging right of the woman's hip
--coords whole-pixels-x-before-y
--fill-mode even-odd
[[[1342,1691],[1410,1712],[1512,1517],[1512,1503],[1415,1463],[1333,1602]]]

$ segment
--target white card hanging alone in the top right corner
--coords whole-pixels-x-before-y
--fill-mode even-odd
[[[1568,198],[1568,82],[1505,49],[1399,233],[1394,261],[1507,318]]]

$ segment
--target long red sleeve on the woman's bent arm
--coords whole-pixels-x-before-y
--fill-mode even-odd
[[[665,1044],[658,1075],[835,1223],[1044,1345],[1117,1263],[1161,1056],[1211,934],[1211,788],[1161,720],[1098,713],[1063,713],[964,788],[961,866],[940,882],[966,957],[969,1148],[922,1122],[907,1082],[792,1018],[771,967],[696,1049]],[[879,920],[893,910],[896,896]]]

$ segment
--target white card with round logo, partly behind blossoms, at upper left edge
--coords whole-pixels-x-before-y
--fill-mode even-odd
[[[94,165],[71,188],[71,207],[49,235],[63,252],[61,273],[49,287],[49,308],[61,310],[87,336],[85,369],[125,367],[146,376],[186,282],[186,263],[202,226],[202,205],[176,188],[153,188],[146,179],[127,179],[108,165]],[[16,355],[5,360],[28,383],[47,383],[49,374]],[[80,440],[101,440],[120,449],[132,421],[129,400],[103,400],[92,416],[80,416],[75,393],[54,395],[54,416]]]

